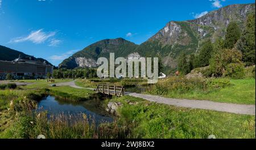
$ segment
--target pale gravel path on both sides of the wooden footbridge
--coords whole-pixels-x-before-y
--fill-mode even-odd
[[[59,83],[56,85],[57,86],[71,86],[71,87],[75,87],[77,89],[94,90],[92,88],[84,88],[84,87],[77,86],[75,84],[75,81]],[[234,113],[234,114],[255,115],[255,105],[220,103],[220,102],[205,101],[205,100],[165,98],[165,97],[159,97],[156,95],[128,93],[128,92],[125,92],[125,94],[131,95],[133,97],[143,98],[143,99],[146,99],[147,101],[151,101],[151,102],[164,103],[167,105],[173,105],[173,106],[178,106],[178,107],[215,110],[215,111],[222,111],[222,112]]]

